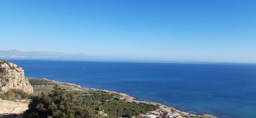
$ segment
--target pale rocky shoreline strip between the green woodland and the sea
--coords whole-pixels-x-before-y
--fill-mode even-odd
[[[137,101],[137,100],[135,100],[136,99],[135,97],[132,97],[130,95],[127,95],[127,94],[121,93],[121,92],[109,91],[109,90],[105,90],[105,89],[86,88],[86,87],[82,87],[80,85],[76,85],[74,83],[53,81],[53,80],[50,80],[50,79],[47,79],[47,78],[41,78],[41,79],[44,79],[44,80],[47,80],[47,81],[50,81],[50,82],[53,82],[53,83],[57,83],[60,86],[67,87],[67,85],[68,85],[68,87],[71,87],[73,90],[76,90],[76,91],[93,90],[93,91],[104,91],[104,92],[109,92],[109,93],[115,93],[115,94],[118,94],[118,95],[121,96],[121,98],[120,98],[121,100],[125,100],[125,101],[128,101],[128,102],[136,102],[136,103],[154,104],[154,105],[159,106],[159,108],[161,110],[166,111],[166,112],[174,112],[174,113],[181,114],[181,115],[208,116],[208,117],[211,117],[211,118],[218,118],[217,116],[214,116],[212,114],[192,114],[192,113],[189,113],[189,112],[184,112],[184,111],[176,109],[175,107],[167,106],[167,105],[160,104],[160,103],[157,103],[157,102]]]

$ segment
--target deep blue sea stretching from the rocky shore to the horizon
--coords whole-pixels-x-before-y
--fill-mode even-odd
[[[256,64],[9,61],[27,77],[123,92],[186,112],[256,118]]]

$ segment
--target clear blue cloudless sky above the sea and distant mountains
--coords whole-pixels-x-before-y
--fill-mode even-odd
[[[0,50],[256,62],[256,0],[0,0]]]

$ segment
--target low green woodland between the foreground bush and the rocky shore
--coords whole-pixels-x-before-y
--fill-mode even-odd
[[[114,117],[128,117],[153,111],[158,106],[144,103],[134,103],[119,100],[118,94],[109,94],[104,91],[88,92],[83,95],[84,101],[87,101],[87,106],[105,111],[111,118]],[[96,102],[95,102],[96,101]],[[92,104],[93,103],[93,104]]]

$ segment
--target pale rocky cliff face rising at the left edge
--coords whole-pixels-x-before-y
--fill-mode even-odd
[[[33,87],[24,70],[14,63],[0,60],[0,89],[6,92],[8,89],[20,89],[28,94],[33,94]]]

